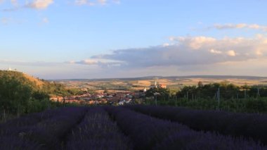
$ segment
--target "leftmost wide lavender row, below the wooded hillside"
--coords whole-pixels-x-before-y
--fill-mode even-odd
[[[0,125],[0,149],[61,149],[69,130],[88,108],[60,108],[34,113]]]

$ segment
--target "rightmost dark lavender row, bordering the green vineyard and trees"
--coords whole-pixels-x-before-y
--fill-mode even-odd
[[[200,111],[168,106],[127,106],[134,111],[171,120],[194,130],[219,132],[267,144],[267,115]]]

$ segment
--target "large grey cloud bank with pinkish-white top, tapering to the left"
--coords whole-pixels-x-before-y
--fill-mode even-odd
[[[216,63],[248,61],[267,56],[267,38],[237,37],[171,37],[175,44],[143,49],[122,49],[112,54],[93,56],[84,65],[118,65],[121,68],[148,68],[155,66],[211,65]],[[102,60],[102,61],[101,61]],[[105,60],[105,61],[103,61]],[[107,61],[108,60],[108,61]]]

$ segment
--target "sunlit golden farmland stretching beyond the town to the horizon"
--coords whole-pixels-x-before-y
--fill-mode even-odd
[[[136,77],[136,78],[117,78],[117,79],[95,79],[95,80],[56,80],[57,82],[70,88],[88,89],[132,89],[140,90],[150,87],[155,80],[168,88],[181,88],[183,86],[197,85],[202,82],[204,85],[229,82],[233,85],[266,85],[267,77],[252,76],[223,76],[223,75],[200,75],[200,76],[177,76],[177,77]]]

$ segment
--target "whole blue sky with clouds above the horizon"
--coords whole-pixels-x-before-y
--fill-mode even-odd
[[[0,0],[0,70],[267,76],[265,0]]]

